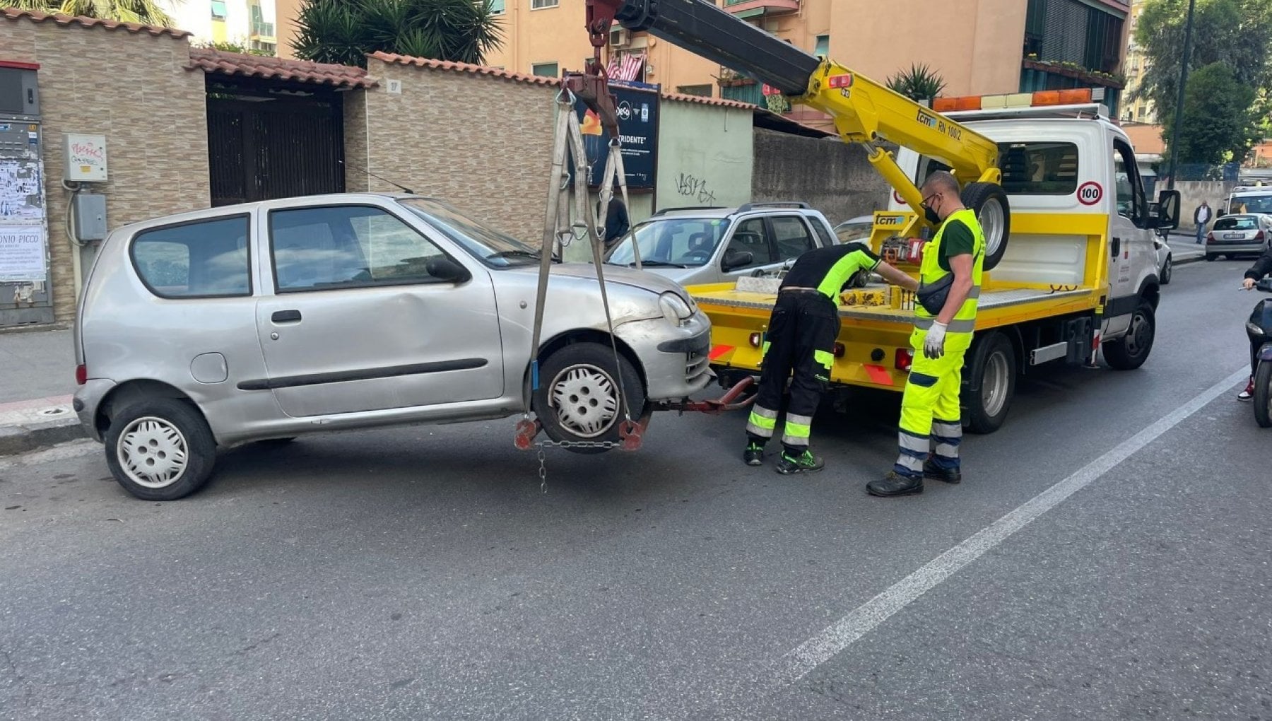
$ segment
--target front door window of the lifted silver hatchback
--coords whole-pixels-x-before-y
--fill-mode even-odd
[[[279,292],[434,282],[429,261],[444,254],[373,206],[271,211],[270,253]]]

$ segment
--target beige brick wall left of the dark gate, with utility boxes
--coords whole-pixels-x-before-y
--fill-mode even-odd
[[[209,205],[204,74],[172,34],[0,18],[0,58],[38,62],[53,309],[74,319],[75,281],[64,217],[62,134],[106,135],[112,229]],[[83,253],[84,272],[92,251]]]

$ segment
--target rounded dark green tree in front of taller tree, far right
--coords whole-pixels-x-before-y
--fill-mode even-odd
[[[1243,85],[1236,75],[1226,62],[1212,62],[1188,78],[1179,125],[1180,163],[1219,165],[1245,158],[1259,135],[1259,118],[1254,88]]]

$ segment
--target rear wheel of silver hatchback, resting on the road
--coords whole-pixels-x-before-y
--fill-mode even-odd
[[[176,501],[198,491],[216,463],[216,440],[183,401],[151,398],[111,418],[106,463],[123,490],[145,501]]]

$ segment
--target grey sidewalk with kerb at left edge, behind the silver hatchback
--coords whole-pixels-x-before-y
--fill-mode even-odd
[[[0,332],[0,457],[84,437],[70,331]]]

